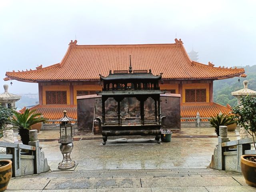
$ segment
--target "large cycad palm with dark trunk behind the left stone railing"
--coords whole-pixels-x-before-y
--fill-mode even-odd
[[[24,113],[14,112],[14,118],[11,120],[11,124],[18,127],[18,134],[23,144],[29,142],[29,130],[30,126],[45,122],[46,118],[40,117],[41,113],[36,113],[36,110],[26,109]]]

